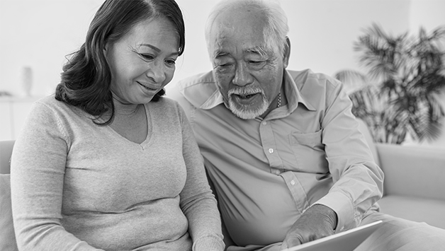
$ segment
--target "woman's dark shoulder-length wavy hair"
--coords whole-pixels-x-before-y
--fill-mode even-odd
[[[107,42],[118,41],[133,25],[158,17],[167,18],[173,23],[179,36],[178,49],[181,55],[185,46],[184,18],[174,0],[106,0],[91,21],[86,42],[71,54],[63,66],[55,98],[79,107],[96,118],[111,109],[111,117],[102,124],[113,122],[115,111],[111,94],[111,70],[106,62],[105,46]],[[154,95],[152,101],[159,100],[164,94],[162,89]]]

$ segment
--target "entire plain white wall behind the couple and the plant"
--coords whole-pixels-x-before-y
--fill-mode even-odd
[[[0,0],[0,91],[23,95],[21,69],[31,66],[33,95],[52,93],[65,55],[81,45],[102,2]],[[186,21],[186,50],[172,83],[211,69],[203,28],[217,0],[177,2]],[[353,43],[371,23],[394,35],[417,33],[420,26],[432,30],[445,25],[445,0],[281,0],[281,4],[291,29],[289,68],[329,75],[360,69]]]

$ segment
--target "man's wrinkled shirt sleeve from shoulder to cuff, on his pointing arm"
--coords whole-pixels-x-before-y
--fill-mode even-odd
[[[327,86],[322,143],[334,185],[316,204],[329,206],[337,213],[336,232],[339,232],[358,226],[364,213],[381,199],[383,171],[359,131],[351,113],[351,100],[342,84],[328,81]]]

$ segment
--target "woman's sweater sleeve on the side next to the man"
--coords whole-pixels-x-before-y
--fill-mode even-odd
[[[205,176],[203,158],[184,110],[179,107],[179,111],[183,154],[187,168],[186,185],[180,194],[181,209],[188,218],[193,251],[224,250],[220,214]]]

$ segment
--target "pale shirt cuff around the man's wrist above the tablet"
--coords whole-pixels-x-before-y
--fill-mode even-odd
[[[340,192],[329,192],[314,204],[322,204],[334,210],[337,214],[337,227],[335,233],[356,227],[354,206],[346,195]]]

